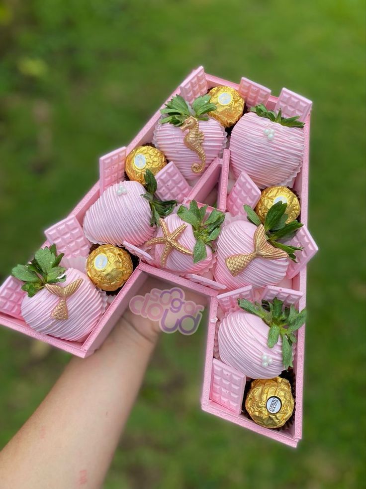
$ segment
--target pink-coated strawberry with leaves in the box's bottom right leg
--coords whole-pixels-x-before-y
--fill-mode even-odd
[[[243,310],[229,313],[219,325],[221,360],[254,379],[270,379],[292,366],[294,332],[305,322],[305,310],[263,302],[262,306],[240,299]]]

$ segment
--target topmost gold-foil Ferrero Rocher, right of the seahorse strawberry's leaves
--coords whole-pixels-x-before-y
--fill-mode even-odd
[[[210,112],[210,116],[216,119],[224,127],[235,124],[243,114],[244,99],[237,90],[230,87],[214,87],[208,92],[210,102],[216,104],[217,109]]]

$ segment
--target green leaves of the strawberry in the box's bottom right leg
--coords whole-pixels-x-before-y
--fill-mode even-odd
[[[292,367],[292,345],[296,342],[294,332],[299,329],[306,320],[306,311],[296,311],[293,304],[284,307],[283,302],[275,298],[273,302],[262,301],[252,304],[246,299],[238,299],[238,305],[244,311],[255,314],[269,326],[267,344],[273,348],[282,339],[282,363],[287,370]]]

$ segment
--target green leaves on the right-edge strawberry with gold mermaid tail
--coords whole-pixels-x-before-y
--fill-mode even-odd
[[[276,202],[267,212],[266,219],[264,222],[264,227],[267,235],[268,241],[275,248],[279,248],[287,253],[288,257],[296,262],[295,251],[302,250],[301,247],[291,246],[284,244],[278,240],[289,240],[291,239],[300,227],[303,226],[301,222],[291,221],[286,224],[287,214],[286,214],[287,204],[281,201]],[[250,222],[259,226],[261,220],[255,211],[249,205],[244,205],[244,210],[247,213],[247,218]]]

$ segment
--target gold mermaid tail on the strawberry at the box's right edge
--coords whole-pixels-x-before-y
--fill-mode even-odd
[[[254,251],[252,251],[252,253],[238,253],[237,255],[231,255],[226,258],[226,266],[233,277],[236,277],[242,272],[257,256],[267,258],[268,260],[288,257],[285,251],[275,248],[267,241],[266,231],[263,224],[257,227],[253,236],[253,244]]]

